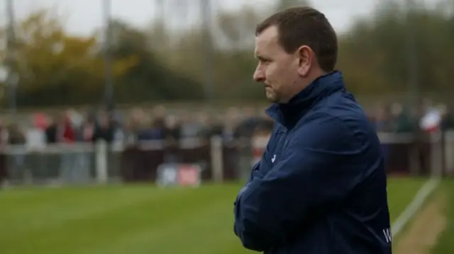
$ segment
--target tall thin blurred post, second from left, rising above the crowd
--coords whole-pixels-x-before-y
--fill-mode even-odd
[[[111,57],[111,0],[103,1],[104,13],[104,64],[106,66],[104,100],[106,106],[113,103],[114,88],[112,80],[112,57]]]

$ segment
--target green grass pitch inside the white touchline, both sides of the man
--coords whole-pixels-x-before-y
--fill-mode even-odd
[[[424,179],[388,181],[395,219]],[[1,254],[242,254],[233,234],[239,184],[0,191]]]

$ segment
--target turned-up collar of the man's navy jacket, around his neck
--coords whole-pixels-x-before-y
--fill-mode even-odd
[[[291,128],[314,103],[332,93],[345,90],[341,71],[333,71],[309,83],[288,103],[273,103],[266,112],[273,120]]]

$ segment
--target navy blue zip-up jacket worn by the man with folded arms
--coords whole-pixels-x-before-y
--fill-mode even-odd
[[[342,74],[272,105],[261,161],[235,202],[243,246],[269,254],[389,254],[384,158]]]

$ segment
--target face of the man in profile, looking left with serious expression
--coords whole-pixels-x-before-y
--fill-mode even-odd
[[[255,57],[258,66],[254,80],[265,84],[267,99],[272,103],[286,103],[294,96],[299,82],[300,59],[297,54],[287,54],[278,42],[276,26],[265,29],[255,37]]]

